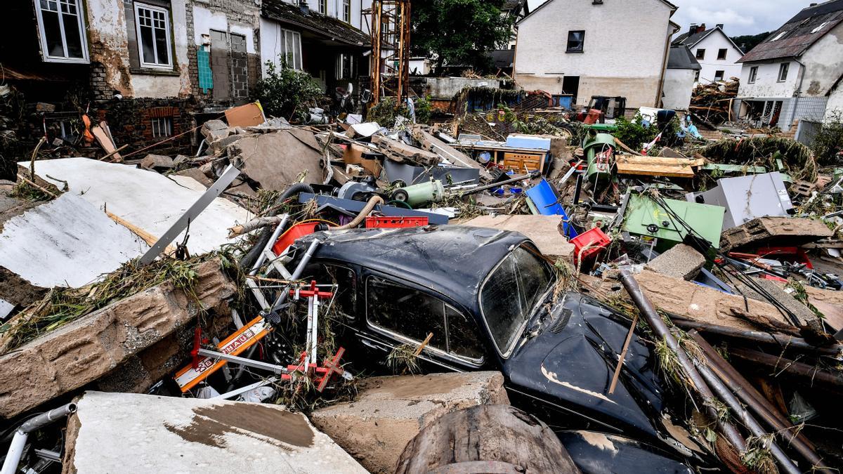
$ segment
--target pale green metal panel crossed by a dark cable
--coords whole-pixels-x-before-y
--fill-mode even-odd
[[[663,199],[663,202],[679,219],[685,221],[685,224],[703,239],[711,242],[714,248],[720,247],[725,207],[676,199]],[[668,242],[681,242],[688,233],[671,213],[651,197],[635,192],[630,194],[626,202],[621,229],[630,234],[647,235]]]

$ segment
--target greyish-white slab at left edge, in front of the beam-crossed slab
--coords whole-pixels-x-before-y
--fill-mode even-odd
[[[74,190],[3,224],[0,266],[35,286],[81,287],[148,248]]]

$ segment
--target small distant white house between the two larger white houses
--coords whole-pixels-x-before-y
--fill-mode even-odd
[[[690,30],[679,35],[674,45],[688,46],[700,63],[700,73],[697,83],[712,83],[728,81],[729,78],[739,78],[741,65],[738,59],[744,56],[744,51],[734,44],[726,33],[723,25],[717,24],[711,30],[706,25],[690,25]]]

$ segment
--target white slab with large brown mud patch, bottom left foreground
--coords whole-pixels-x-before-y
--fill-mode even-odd
[[[366,472],[301,413],[271,404],[89,391],[63,472]]]

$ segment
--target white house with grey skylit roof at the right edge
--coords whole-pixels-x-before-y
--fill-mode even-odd
[[[835,86],[843,75],[841,39],[843,0],[804,8],[740,59],[733,113],[782,130],[823,121],[829,102],[840,106]]]

